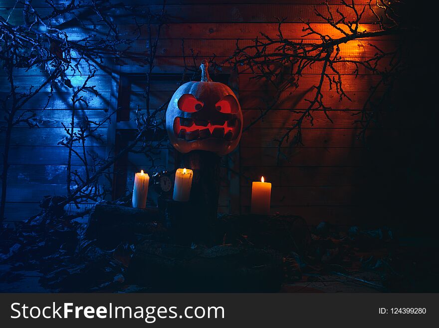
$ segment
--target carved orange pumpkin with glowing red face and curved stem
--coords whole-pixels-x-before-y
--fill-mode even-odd
[[[180,86],[166,111],[169,140],[181,153],[205,150],[218,155],[231,152],[242,133],[242,112],[233,91],[213,82],[203,60],[201,81]]]

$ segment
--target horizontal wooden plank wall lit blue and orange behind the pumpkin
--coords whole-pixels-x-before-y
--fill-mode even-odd
[[[10,3],[9,3],[10,2]],[[22,13],[12,9],[12,2],[1,1],[0,14],[9,17],[10,22],[19,22]],[[118,1],[116,1],[118,2]],[[129,4],[136,1],[124,1]],[[139,1],[137,1],[139,2]],[[158,12],[161,1],[147,1],[149,9]],[[143,3],[147,3],[143,2]],[[207,3],[209,2],[209,3]],[[274,3],[275,2],[275,3]],[[240,45],[251,43],[251,39],[259,32],[275,37],[277,24],[274,17],[286,17],[284,37],[298,39],[303,34],[300,18],[314,22],[315,26],[327,34],[337,36],[338,32],[322,23],[313,12],[313,6],[320,0],[169,0],[166,10],[172,22],[163,28],[163,37],[159,43],[156,72],[174,73],[176,67],[183,65],[182,39],[184,39],[187,55],[189,49],[194,49],[200,58],[210,57],[215,53],[217,60],[228,56],[235,47],[236,39]],[[332,9],[340,7],[339,1],[329,1]],[[366,0],[356,0],[365,4]],[[41,11],[49,11],[44,1],[37,3]],[[319,4],[317,4],[319,5]],[[147,5],[143,4],[143,10]],[[343,8],[343,11],[346,11]],[[11,13],[12,12],[12,13]],[[71,39],[83,37],[85,32],[92,29],[96,33],[105,33],[105,27],[98,22],[94,26],[79,26],[73,17],[64,17],[65,30]],[[365,14],[361,28],[371,30],[377,26],[371,24],[374,17]],[[127,17],[116,20],[119,29],[131,35],[134,24]],[[145,29],[146,27],[144,27]],[[145,29],[146,31],[146,29]],[[306,41],[311,39],[307,38]],[[341,46],[341,55],[346,58],[366,59],[375,53],[367,46],[375,44],[384,49],[390,49],[396,41],[391,38],[351,41]],[[144,33],[132,45],[132,50],[139,56],[144,56],[149,50],[147,34]],[[89,96],[89,106],[78,113],[77,120],[81,121],[87,115],[90,119],[100,120],[106,117],[111,90],[112,58],[104,60],[98,74],[91,81],[97,86],[100,96]],[[133,60],[121,59],[121,64],[133,64]],[[334,91],[329,91],[326,84],[325,98],[333,108],[330,115],[334,123],[325,119],[322,112],[314,113],[314,126],[305,123],[303,130],[304,146],[289,149],[284,152],[288,160],[277,166],[276,143],[273,141],[286,127],[291,124],[295,114],[291,109],[303,109],[311,86],[318,78],[318,65],[308,69],[302,77],[300,86],[295,90],[286,90],[281,101],[275,106],[263,121],[255,124],[242,135],[240,142],[240,180],[241,210],[248,211],[250,201],[250,186],[252,180],[261,175],[273,184],[273,211],[304,216],[309,223],[327,220],[333,223],[350,224],[361,220],[364,186],[367,183],[368,152],[360,140],[357,140],[358,125],[353,124],[352,114],[361,108],[368,95],[368,89],[376,77],[360,71],[355,78],[350,75],[352,67],[340,67],[344,76],[344,89],[351,96],[352,102],[339,101]],[[263,108],[264,98],[269,99],[273,93],[267,85],[251,80],[253,76],[247,67],[240,68],[239,101],[243,108],[246,123],[255,119],[260,108]],[[1,71],[0,92],[7,91],[6,78]],[[35,84],[43,77],[37,70],[16,72],[15,81],[22,88]],[[73,77],[73,85],[79,85],[83,77]],[[176,86],[170,83],[153,85],[152,106],[159,105]],[[10,158],[8,174],[7,216],[9,219],[25,219],[37,211],[37,203],[45,194],[64,194],[66,149],[57,145],[62,138],[61,122],[68,122],[70,105],[67,99],[71,90],[60,86],[49,103],[42,111],[41,104],[46,99],[47,91],[40,92],[29,109],[34,109],[39,117],[40,128],[28,129],[24,126],[16,128],[12,134],[13,149]],[[244,123],[245,124],[245,123]],[[106,126],[101,134],[106,135]],[[392,134],[392,130],[386,133]],[[2,136],[1,142],[3,142]],[[104,140],[105,142],[105,140]],[[88,141],[91,153],[103,155],[105,143]],[[80,163],[74,163],[75,168],[81,169]],[[246,179],[247,177],[248,179]],[[223,209],[227,208],[227,187],[224,186],[224,198],[221,200]]]

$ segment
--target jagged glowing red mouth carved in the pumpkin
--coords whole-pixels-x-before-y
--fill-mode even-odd
[[[186,141],[219,138],[227,141],[235,140],[239,135],[240,121],[235,117],[229,120],[197,120],[176,117],[174,119],[175,135]]]

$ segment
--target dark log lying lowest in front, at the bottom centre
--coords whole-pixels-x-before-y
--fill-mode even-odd
[[[248,247],[202,249],[145,241],[135,248],[128,277],[153,292],[277,292],[282,257]]]

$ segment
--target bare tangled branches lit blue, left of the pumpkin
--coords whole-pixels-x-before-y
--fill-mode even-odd
[[[153,141],[150,132],[158,129],[164,130],[161,112],[166,109],[167,102],[152,109],[149,98],[150,76],[154,68],[160,28],[167,18],[164,11],[165,4],[161,12],[152,13],[141,12],[136,6],[126,6],[122,3],[110,5],[101,0],[71,0],[66,4],[55,4],[51,0],[46,2],[52,10],[48,14],[40,14],[40,8],[33,7],[31,1],[18,0],[8,17],[0,17],[0,60],[10,84],[9,92],[1,99],[1,110],[4,112],[4,121],[1,124],[1,132],[4,133],[1,221],[4,219],[6,203],[11,132],[15,126],[23,124],[38,127],[39,118],[36,112],[26,108],[41,90],[49,90],[47,101],[44,105],[40,105],[40,109],[43,110],[48,108],[52,95],[56,91],[71,90],[73,92],[69,100],[71,119],[68,123],[61,123],[66,135],[58,143],[68,149],[67,190],[65,196],[56,198],[53,207],[62,208],[66,204],[73,203],[79,208],[78,205],[81,202],[102,200],[109,190],[102,188],[100,179],[103,176],[111,179],[114,172],[111,172],[110,168],[121,156],[127,152],[142,152],[154,160],[155,150],[163,147],[165,141],[164,138]],[[16,19],[20,12],[22,19]],[[117,24],[114,23],[113,16],[120,14],[132,17],[137,26],[134,36],[121,33]],[[64,31],[65,17],[70,17],[76,25],[79,24],[82,27],[86,27],[90,22],[100,22],[106,26],[108,32],[98,36],[95,28],[84,37],[72,39]],[[141,19],[143,23],[138,23],[138,19]],[[136,113],[137,136],[132,143],[117,154],[107,154],[104,158],[89,154],[86,148],[87,140],[93,138],[99,141],[101,135],[98,129],[111,119],[115,119],[115,113],[110,113],[106,119],[99,122],[90,120],[88,117],[77,122],[75,114],[88,107],[88,98],[85,97],[87,93],[91,93],[94,97],[100,96],[99,90],[95,85],[91,85],[91,82],[99,69],[105,71],[104,57],[110,56],[116,60],[117,58],[130,58],[133,55],[130,52],[130,44],[140,37],[144,24],[146,24],[152,46],[149,57],[142,61],[148,65],[145,90],[146,108],[144,110],[138,108]],[[153,33],[155,33],[155,38],[152,36]],[[28,90],[21,90],[14,81],[18,71],[37,71],[45,77],[39,85],[31,86]],[[75,86],[73,80],[84,82]],[[83,173],[72,169],[73,157],[82,163]],[[79,213],[75,216],[83,214]]]

